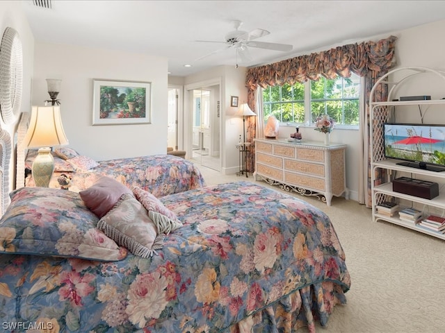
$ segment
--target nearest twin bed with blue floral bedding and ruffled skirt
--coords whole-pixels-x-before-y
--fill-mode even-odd
[[[346,303],[337,234],[303,200],[251,182],[157,197],[158,185],[120,182],[125,189],[105,189],[119,198],[98,215],[86,196],[95,186],[10,193],[0,220],[6,332],[315,332]],[[130,216],[148,216],[156,238],[139,239]],[[116,237],[131,232],[138,246]]]

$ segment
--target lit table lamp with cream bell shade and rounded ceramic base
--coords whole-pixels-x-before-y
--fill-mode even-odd
[[[24,147],[39,148],[31,174],[35,186],[49,187],[54,171],[51,147],[65,146],[68,139],[63,130],[58,106],[33,106],[29,128],[24,138]]]

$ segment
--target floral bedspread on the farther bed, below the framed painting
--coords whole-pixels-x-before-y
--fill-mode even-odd
[[[63,173],[71,178],[70,191],[76,192],[90,187],[99,175],[115,178],[128,187],[138,186],[158,197],[205,185],[199,169],[192,162],[177,156],[147,155],[98,163],[99,166],[86,172],[56,171],[49,187],[60,187],[57,178]],[[26,186],[34,186],[32,177]]]

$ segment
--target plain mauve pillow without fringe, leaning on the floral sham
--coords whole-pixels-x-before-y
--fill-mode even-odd
[[[118,203],[123,194],[131,194],[131,190],[113,178],[101,176],[91,187],[79,194],[86,207],[100,219]]]

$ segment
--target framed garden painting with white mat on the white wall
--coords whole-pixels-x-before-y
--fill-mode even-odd
[[[92,125],[151,123],[152,83],[93,79]]]

